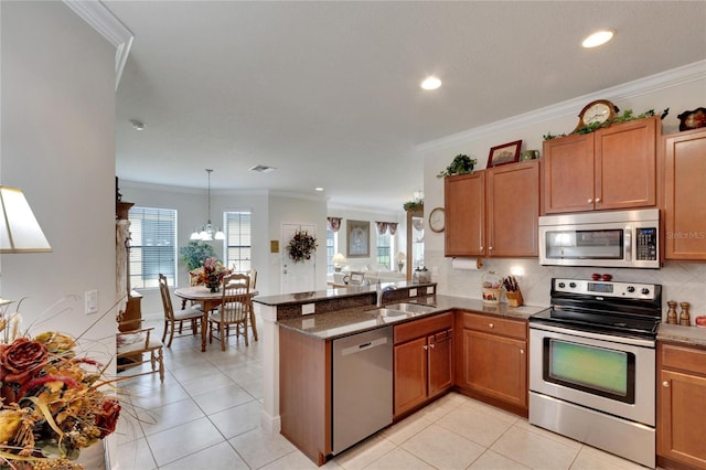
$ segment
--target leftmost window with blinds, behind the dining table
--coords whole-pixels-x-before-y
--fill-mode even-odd
[[[130,287],[159,287],[160,273],[176,285],[176,211],[132,206],[130,221]]]

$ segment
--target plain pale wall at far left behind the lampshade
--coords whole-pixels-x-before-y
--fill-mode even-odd
[[[99,312],[116,297],[115,49],[63,2],[1,2],[2,184],[24,191],[53,247],[2,255],[3,298],[26,297],[24,325],[60,299],[61,317],[38,330],[77,335],[98,319],[83,296],[98,290]],[[86,333],[115,352],[115,312]],[[98,348],[98,345],[96,345]]]

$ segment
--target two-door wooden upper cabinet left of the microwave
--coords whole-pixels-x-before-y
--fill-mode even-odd
[[[445,180],[446,256],[537,256],[541,161]]]

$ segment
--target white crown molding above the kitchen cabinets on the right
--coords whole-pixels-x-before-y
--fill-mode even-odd
[[[582,95],[518,116],[513,116],[507,119],[498,120],[495,122],[442,137],[437,140],[424,142],[416,146],[415,151],[419,153],[428,153],[435,150],[446,149],[447,147],[466,143],[469,140],[472,141],[489,137],[496,133],[498,129],[507,130],[522,128],[524,126],[542,122],[560,116],[575,115],[576,109],[580,109],[586,105],[586,103],[592,102],[593,99],[611,99],[613,102],[620,102],[704,78],[706,78],[706,61],[694,62],[693,64],[684,65],[682,67],[661,72],[644,78],[638,78],[600,92]]]

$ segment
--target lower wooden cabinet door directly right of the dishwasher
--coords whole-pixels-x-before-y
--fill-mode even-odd
[[[395,346],[395,415],[427,399],[427,339]]]

